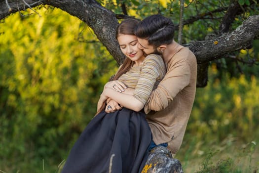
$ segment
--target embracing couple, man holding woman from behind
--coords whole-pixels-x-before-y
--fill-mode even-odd
[[[175,154],[192,109],[197,63],[174,41],[162,15],[123,20],[116,39],[126,58],[100,96],[62,173],[141,173],[157,146]]]

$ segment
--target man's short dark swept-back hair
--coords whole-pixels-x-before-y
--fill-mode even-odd
[[[143,19],[134,33],[138,38],[148,40],[149,45],[157,48],[162,44],[172,43],[174,31],[174,23],[170,18],[156,14]]]

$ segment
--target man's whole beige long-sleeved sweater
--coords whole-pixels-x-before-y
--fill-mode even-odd
[[[167,72],[145,105],[148,124],[156,144],[168,142],[175,154],[182,144],[196,91],[195,55],[176,42]],[[153,110],[153,111],[150,111]]]

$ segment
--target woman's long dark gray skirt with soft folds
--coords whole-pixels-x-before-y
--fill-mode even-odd
[[[101,112],[75,142],[62,173],[141,173],[151,131],[143,112]]]

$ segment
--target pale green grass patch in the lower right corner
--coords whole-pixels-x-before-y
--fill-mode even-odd
[[[229,137],[219,144],[197,143],[180,149],[175,158],[182,162],[185,173],[258,173],[258,142],[242,143]]]

